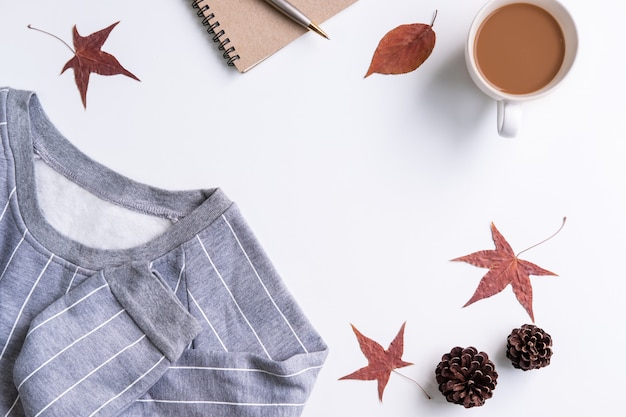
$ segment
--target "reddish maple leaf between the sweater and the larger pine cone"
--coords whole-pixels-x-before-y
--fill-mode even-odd
[[[398,335],[395,337],[395,339],[393,339],[387,350],[385,350],[376,341],[370,339],[367,336],[364,336],[361,332],[357,330],[356,327],[354,327],[354,325],[351,325],[352,330],[354,330],[354,334],[359,341],[361,351],[367,358],[368,364],[358,371],[355,371],[350,375],[346,375],[339,379],[359,379],[363,381],[377,380],[378,399],[382,401],[383,392],[385,391],[385,387],[387,386],[387,382],[389,381],[389,377],[391,376],[391,371],[397,368],[403,368],[405,366],[413,365],[411,362],[405,362],[401,359],[404,352],[405,324],[406,323],[402,324]]]

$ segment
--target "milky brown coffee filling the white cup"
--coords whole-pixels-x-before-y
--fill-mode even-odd
[[[546,86],[565,56],[559,23],[541,7],[513,3],[491,13],[474,41],[483,77],[509,94],[528,94]]]

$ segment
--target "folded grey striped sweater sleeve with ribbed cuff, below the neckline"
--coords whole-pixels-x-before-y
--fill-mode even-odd
[[[199,330],[147,263],[98,273],[32,321],[14,368],[24,412],[120,415]]]

